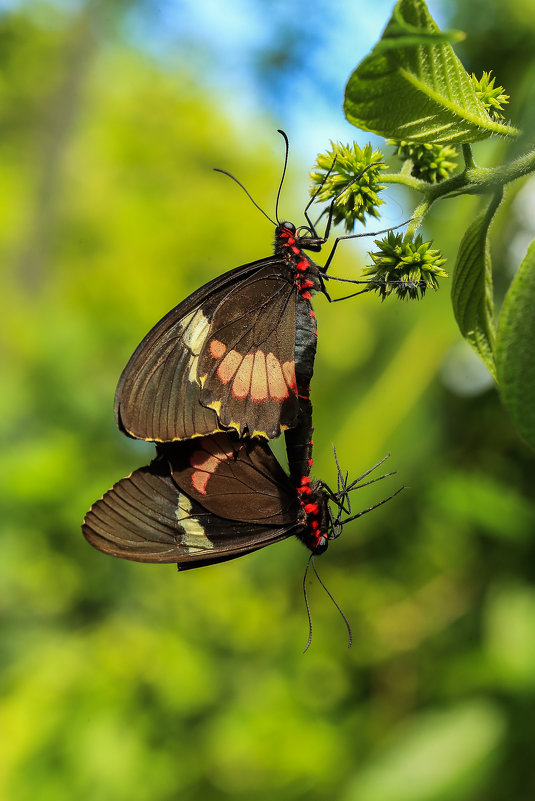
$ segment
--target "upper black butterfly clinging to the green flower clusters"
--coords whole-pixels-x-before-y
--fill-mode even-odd
[[[218,276],[155,325],[117,386],[122,431],[155,442],[228,429],[273,439],[298,424],[316,353],[311,296],[330,300],[327,269],[338,241],[351,238],[335,241],[324,267],[305,253],[326,242],[334,202],[324,236],[310,221],[309,203],[307,226],[277,222],[272,256]]]

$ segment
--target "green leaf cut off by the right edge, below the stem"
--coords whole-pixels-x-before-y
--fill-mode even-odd
[[[505,296],[496,367],[500,394],[515,427],[535,449],[535,242]]]

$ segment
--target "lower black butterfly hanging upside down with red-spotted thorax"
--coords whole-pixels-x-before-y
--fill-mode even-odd
[[[320,554],[345,523],[370,511],[351,515],[349,501],[352,490],[380,480],[361,483],[369,473],[348,485],[338,468],[333,492],[308,476],[296,485],[264,440],[232,432],[169,443],[91,507],[82,531],[104,553],[176,562],[180,570],[234,559],[292,535]]]

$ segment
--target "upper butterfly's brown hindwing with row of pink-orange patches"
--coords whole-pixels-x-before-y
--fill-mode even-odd
[[[199,356],[201,402],[223,427],[267,439],[295,425],[298,413],[297,289],[282,268],[268,265],[232,287]]]

